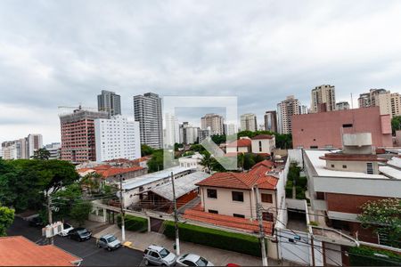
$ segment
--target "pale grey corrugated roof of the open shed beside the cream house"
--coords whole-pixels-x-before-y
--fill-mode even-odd
[[[180,198],[184,196],[186,193],[195,190],[197,188],[196,183],[201,182],[202,180],[208,178],[209,176],[210,174],[206,174],[203,172],[196,172],[177,178],[174,181],[174,186],[176,188],[176,198]],[[166,198],[170,201],[174,200],[171,182],[161,184],[160,186],[151,189],[151,191],[155,194],[158,194],[160,197]]]

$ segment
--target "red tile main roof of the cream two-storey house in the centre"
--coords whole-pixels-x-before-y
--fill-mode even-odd
[[[248,173],[216,173],[198,182],[197,185],[250,190],[258,184],[259,189],[275,190],[278,178],[266,174],[271,169],[267,167],[269,165],[270,162],[265,160],[259,162],[258,166],[254,166]]]

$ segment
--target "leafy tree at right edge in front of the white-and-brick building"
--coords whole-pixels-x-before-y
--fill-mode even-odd
[[[365,228],[385,236],[386,245],[401,247],[401,199],[388,198],[368,201],[361,206],[362,213],[358,215]]]

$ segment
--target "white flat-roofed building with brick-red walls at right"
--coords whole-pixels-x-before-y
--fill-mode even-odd
[[[397,159],[391,165],[372,154],[370,133],[344,134],[343,145],[343,150],[303,152],[315,221],[358,239],[378,242],[372,230],[361,226],[357,215],[367,201],[401,197],[401,168],[396,166]],[[319,214],[327,220],[319,220]]]

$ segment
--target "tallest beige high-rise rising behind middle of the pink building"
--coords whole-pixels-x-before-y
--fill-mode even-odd
[[[320,85],[312,89],[311,113],[336,109],[336,93],[333,85]]]

